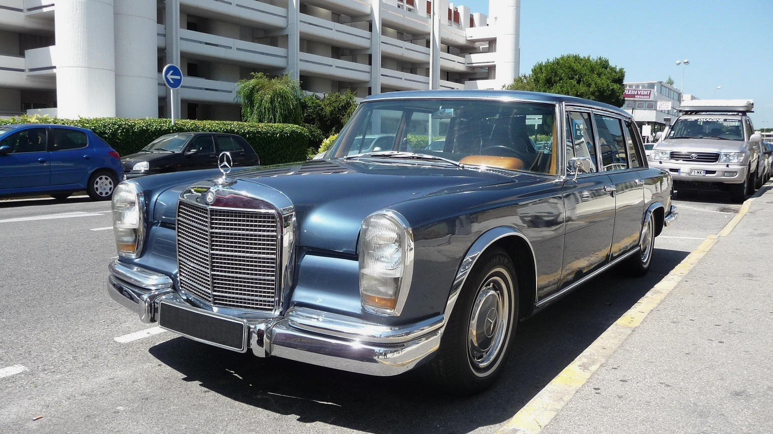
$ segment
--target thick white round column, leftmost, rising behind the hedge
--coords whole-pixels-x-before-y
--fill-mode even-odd
[[[113,0],[56,2],[59,117],[115,116]]]

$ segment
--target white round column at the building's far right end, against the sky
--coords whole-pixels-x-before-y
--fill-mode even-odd
[[[521,0],[499,0],[496,9],[496,88],[519,76]]]

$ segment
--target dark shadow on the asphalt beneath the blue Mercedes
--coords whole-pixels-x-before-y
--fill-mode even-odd
[[[689,252],[656,249],[638,279],[611,270],[519,324],[494,387],[469,398],[434,391],[421,371],[391,378],[356,375],[199,344],[184,337],[150,348],[183,381],[299,422],[397,432],[471,432],[512,417]],[[206,409],[199,409],[206,412]]]

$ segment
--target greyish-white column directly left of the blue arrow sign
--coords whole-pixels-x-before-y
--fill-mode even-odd
[[[155,0],[115,2],[115,114],[158,116]]]

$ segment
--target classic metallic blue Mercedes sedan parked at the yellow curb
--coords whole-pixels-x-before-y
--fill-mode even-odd
[[[376,95],[318,160],[232,165],[117,186],[111,297],[219,348],[458,394],[495,381],[520,320],[646,273],[676,219],[628,113],[545,93]]]

